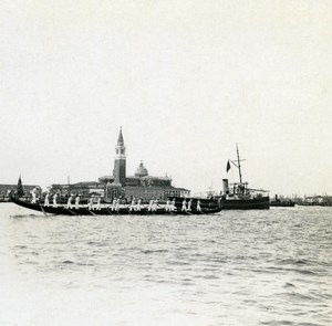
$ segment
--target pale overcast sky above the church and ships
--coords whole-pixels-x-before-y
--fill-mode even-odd
[[[332,194],[332,2],[0,4],[0,183],[127,175]]]

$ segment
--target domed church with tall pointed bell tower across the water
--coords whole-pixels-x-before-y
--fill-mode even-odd
[[[104,183],[104,198],[106,201],[112,201],[114,198],[120,197],[127,201],[133,198],[142,198],[144,201],[158,198],[163,201],[168,197],[190,196],[188,189],[173,187],[172,178],[168,176],[149,176],[142,161],[134,176],[127,176],[126,147],[124,145],[122,128],[120,129],[115,147],[113,175],[100,177],[98,182]]]

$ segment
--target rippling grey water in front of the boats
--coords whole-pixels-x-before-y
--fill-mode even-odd
[[[0,325],[332,325],[332,208],[0,215]]]

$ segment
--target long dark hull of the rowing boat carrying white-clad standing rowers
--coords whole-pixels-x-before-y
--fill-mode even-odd
[[[11,201],[20,207],[42,212],[44,214],[59,214],[59,215],[205,215],[215,214],[221,211],[222,207],[203,208],[201,211],[193,209],[191,211],[181,211],[176,207],[174,211],[166,211],[164,207],[157,208],[156,211],[149,211],[147,207],[142,207],[141,210],[129,210],[128,207],[122,206],[118,210],[111,210],[107,203],[102,204],[101,209],[89,209],[86,206],[80,206],[76,209],[74,206],[68,208],[66,206],[44,206],[42,203],[31,203],[22,201],[18,198],[11,197]]]

